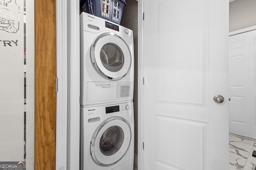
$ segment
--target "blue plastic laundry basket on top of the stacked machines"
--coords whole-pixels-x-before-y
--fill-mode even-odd
[[[80,12],[120,24],[125,6],[125,0],[82,0],[80,1]]]

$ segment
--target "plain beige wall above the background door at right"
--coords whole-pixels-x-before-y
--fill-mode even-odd
[[[229,31],[256,25],[256,0],[235,0],[229,3]]]

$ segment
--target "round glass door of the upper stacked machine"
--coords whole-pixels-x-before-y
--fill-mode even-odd
[[[132,56],[127,43],[119,35],[103,33],[92,45],[91,61],[102,77],[120,80],[129,72]]]

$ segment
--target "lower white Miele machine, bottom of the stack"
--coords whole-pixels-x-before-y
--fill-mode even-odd
[[[133,170],[133,103],[80,109],[80,169]]]

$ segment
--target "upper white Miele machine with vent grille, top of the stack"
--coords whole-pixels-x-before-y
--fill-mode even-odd
[[[80,15],[80,105],[132,102],[133,31],[82,12]]]

